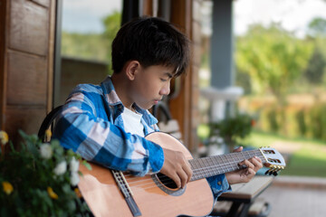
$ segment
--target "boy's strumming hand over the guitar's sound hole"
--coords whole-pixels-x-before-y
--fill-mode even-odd
[[[190,164],[182,152],[163,148],[164,164],[160,173],[168,175],[177,187],[185,187],[193,174]]]

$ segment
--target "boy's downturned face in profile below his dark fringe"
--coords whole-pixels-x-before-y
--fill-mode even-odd
[[[173,67],[155,65],[144,69],[140,66],[131,88],[133,101],[142,109],[150,109],[169,94],[172,77]]]

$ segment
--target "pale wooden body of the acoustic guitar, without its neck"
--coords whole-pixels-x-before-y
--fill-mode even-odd
[[[157,132],[146,138],[162,147],[183,152],[187,159],[192,159],[187,148],[168,134]],[[91,212],[97,217],[133,216],[110,169],[95,164],[91,167],[90,171],[80,166],[82,176],[78,184]],[[161,184],[157,175],[125,176],[141,216],[204,216],[213,208],[213,194],[206,179],[189,182],[185,189],[176,189]]]

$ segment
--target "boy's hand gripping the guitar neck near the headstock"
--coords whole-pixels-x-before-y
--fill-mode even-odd
[[[236,148],[234,152],[241,152],[242,150],[243,147],[240,146]],[[225,173],[229,184],[248,183],[254,177],[257,171],[263,167],[262,160],[257,156],[244,160],[239,165],[246,165],[246,168]]]

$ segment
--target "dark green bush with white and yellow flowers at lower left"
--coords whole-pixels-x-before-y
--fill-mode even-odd
[[[0,216],[91,216],[77,187],[82,157],[58,141],[42,143],[36,135],[19,133],[24,139],[15,144],[19,151],[11,141],[10,152],[0,149]],[[0,145],[8,146],[5,131],[0,135]]]

